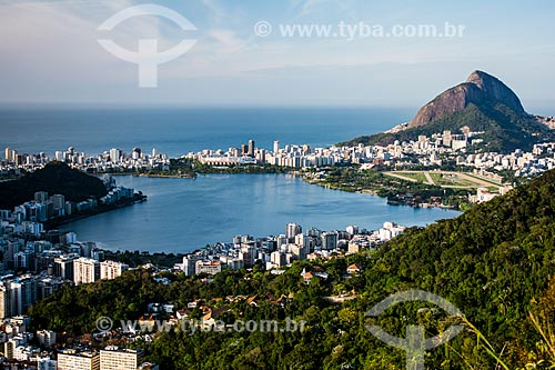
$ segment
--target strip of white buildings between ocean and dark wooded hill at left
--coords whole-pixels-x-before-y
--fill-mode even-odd
[[[65,151],[56,151],[53,157],[44,152],[38,154],[19,153],[16,149],[6,148],[4,159],[0,161],[0,174],[21,169],[34,171],[52,160],[65,162],[72,168],[93,173],[169,170],[170,168],[168,154],[159,153],[155,148],[150,153],[143,152],[140,148],[133,148],[130,153],[112,148],[101,154],[89,156],[70,147]]]

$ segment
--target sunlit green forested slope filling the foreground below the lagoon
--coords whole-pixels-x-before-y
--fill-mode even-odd
[[[149,301],[171,301],[179,308],[202,298],[221,307],[225,297],[256,296],[256,304],[226,302],[225,320],[293,318],[306,320],[303,332],[170,332],[147,346],[148,358],[168,369],[404,369],[402,350],[382,343],[365,329],[373,306],[392,293],[422,289],[456,306],[492,344],[506,369],[527,363],[555,364],[555,352],[532,324],[528,312],[546,333],[555,332],[555,171],[506,196],[475,206],[453,220],[413,228],[379,251],[329,261],[296,262],[285,273],[224,271],[205,282],[178,277],[158,287],[147,272],[64,289],[31,310],[42,328],[83,332],[99,316],[133,319]],[[359,274],[345,279],[346,267]],[[327,280],[305,284],[302,269],[326,271]],[[555,282],[555,280],[554,280]],[[355,293],[343,303],[326,296]],[[292,297],[284,307],[278,297]],[[129,318],[131,316],[131,318]],[[375,320],[404,338],[407,324],[423,324],[426,336],[445,328],[448,318],[414,303],[396,304]],[[549,334],[551,336],[551,334]],[[555,339],[551,338],[549,344]],[[448,346],[428,351],[428,369],[496,369],[496,361],[465,330]],[[542,362],[543,361],[543,362]]]

